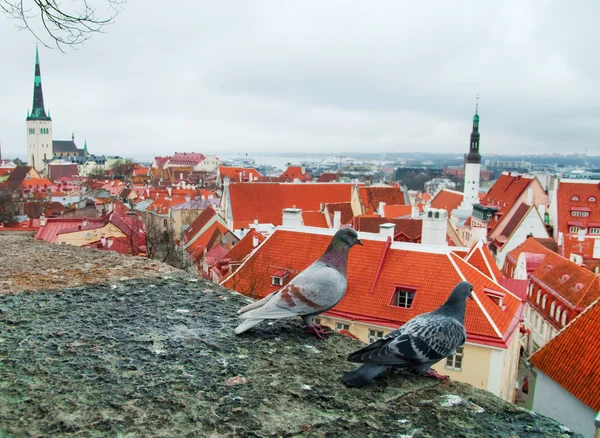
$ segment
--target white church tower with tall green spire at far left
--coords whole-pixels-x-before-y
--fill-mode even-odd
[[[54,153],[52,148],[52,119],[44,109],[42,94],[42,75],[40,59],[35,48],[35,77],[33,82],[33,106],[31,114],[27,114],[27,162],[38,172],[44,170],[44,160],[50,160]]]

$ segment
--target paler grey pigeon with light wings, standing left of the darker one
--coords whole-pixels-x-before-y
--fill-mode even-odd
[[[325,253],[292,281],[260,301],[241,308],[242,322],[235,334],[245,332],[265,319],[301,316],[305,330],[317,338],[331,334],[325,326],[313,324],[313,317],[335,306],[346,293],[348,252],[362,245],[352,228],[341,228],[333,236]]]

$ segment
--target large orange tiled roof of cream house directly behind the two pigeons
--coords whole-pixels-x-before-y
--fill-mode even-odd
[[[246,259],[234,274],[235,279],[229,277],[222,284],[235,286],[242,293],[265,296],[277,290],[271,285],[271,272],[287,269],[290,279],[296,276],[323,253],[333,231],[277,229]],[[348,289],[342,301],[329,312],[332,316],[398,327],[440,306],[456,284],[466,279],[474,285],[477,296],[475,301],[467,303],[467,339],[506,348],[506,340],[521,316],[517,297],[448,248],[432,250],[406,243],[392,243],[389,247],[380,236],[361,233],[360,238],[364,246],[350,252]],[[433,277],[432,272],[435,272]],[[410,309],[390,305],[396,287],[416,291]],[[505,293],[506,307],[500,308],[484,288]]]

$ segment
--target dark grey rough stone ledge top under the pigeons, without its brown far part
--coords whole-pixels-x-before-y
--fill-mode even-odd
[[[246,302],[182,278],[0,296],[0,436],[572,436],[461,383],[348,389],[357,341],[235,336]]]

